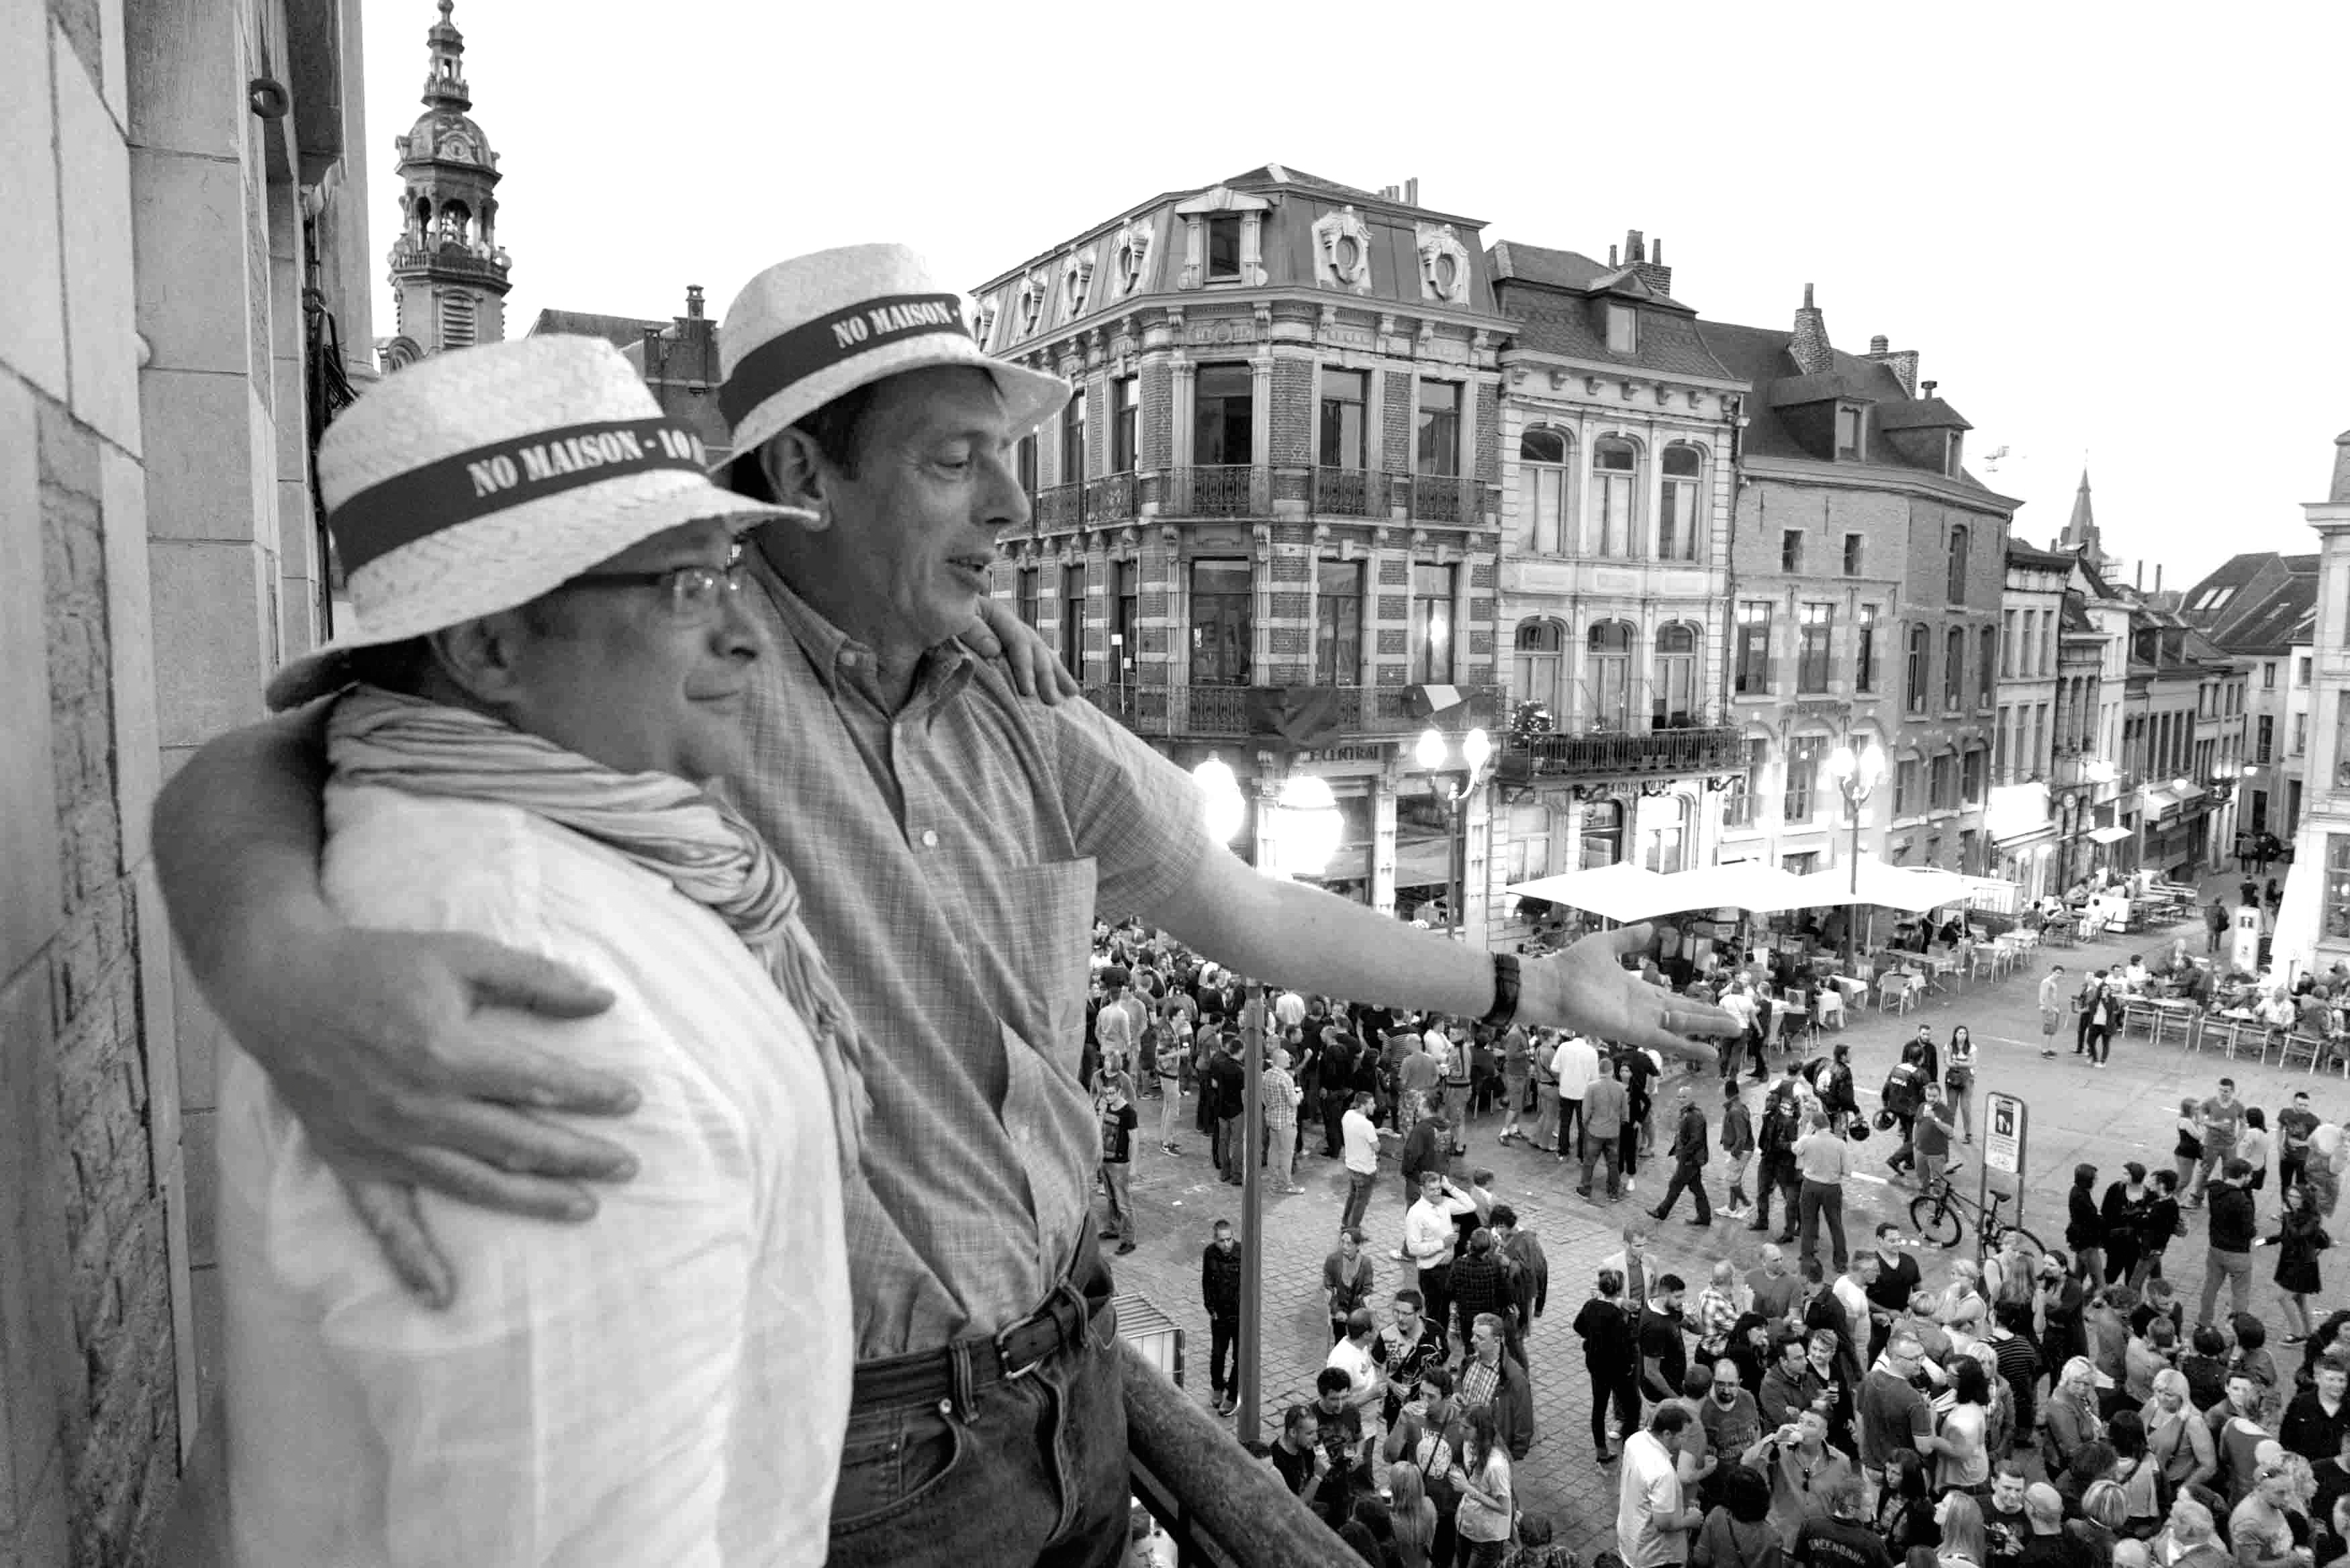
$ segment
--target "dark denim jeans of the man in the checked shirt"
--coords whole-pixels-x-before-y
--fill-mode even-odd
[[[1097,1255],[1081,1269],[1107,1279]],[[966,1408],[853,1406],[830,1561],[935,1563],[947,1540],[966,1563],[1116,1561],[1128,1523],[1123,1389],[1119,1319],[1104,1300],[1083,1345],[987,1385]]]

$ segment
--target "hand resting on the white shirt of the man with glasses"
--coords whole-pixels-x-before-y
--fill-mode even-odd
[[[484,1044],[472,1027],[482,1009],[588,1018],[611,1006],[559,964],[477,936],[343,929],[289,954],[266,987],[219,1004],[402,1284],[432,1305],[446,1305],[456,1281],[418,1218],[416,1187],[585,1220],[595,1197],[583,1182],[634,1175],[620,1145],[540,1114],[625,1114],[637,1107],[625,1079],[510,1037]]]

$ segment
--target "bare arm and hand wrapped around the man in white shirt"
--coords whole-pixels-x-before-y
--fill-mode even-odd
[[[414,1204],[376,1182],[588,1218],[595,1199],[578,1182],[627,1178],[627,1150],[531,1110],[620,1114],[637,1095],[555,1053],[484,1046],[468,1027],[491,1006],[599,1013],[611,1006],[602,987],[479,938],[367,931],[334,912],[317,870],[324,708],[204,745],[155,802],[157,875],[204,999],[425,1288],[421,1229],[385,1234],[414,1225]]]

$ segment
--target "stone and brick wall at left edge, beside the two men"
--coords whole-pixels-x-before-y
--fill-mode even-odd
[[[148,809],[324,632],[357,2],[0,7],[0,1563],[162,1561],[216,1375],[216,1025]],[[357,346],[343,355],[336,346]],[[155,477],[150,484],[148,477]],[[186,1561],[172,1554],[169,1561]]]

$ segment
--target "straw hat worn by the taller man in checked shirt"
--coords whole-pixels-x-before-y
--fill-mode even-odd
[[[964,299],[912,249],[844,244],[778,261],[726,306],[719,411],[740,456],[851,388],[928,364],[992,374],[1022,435],[1069,402],[1060,376],[987,357],[964,327]]]

